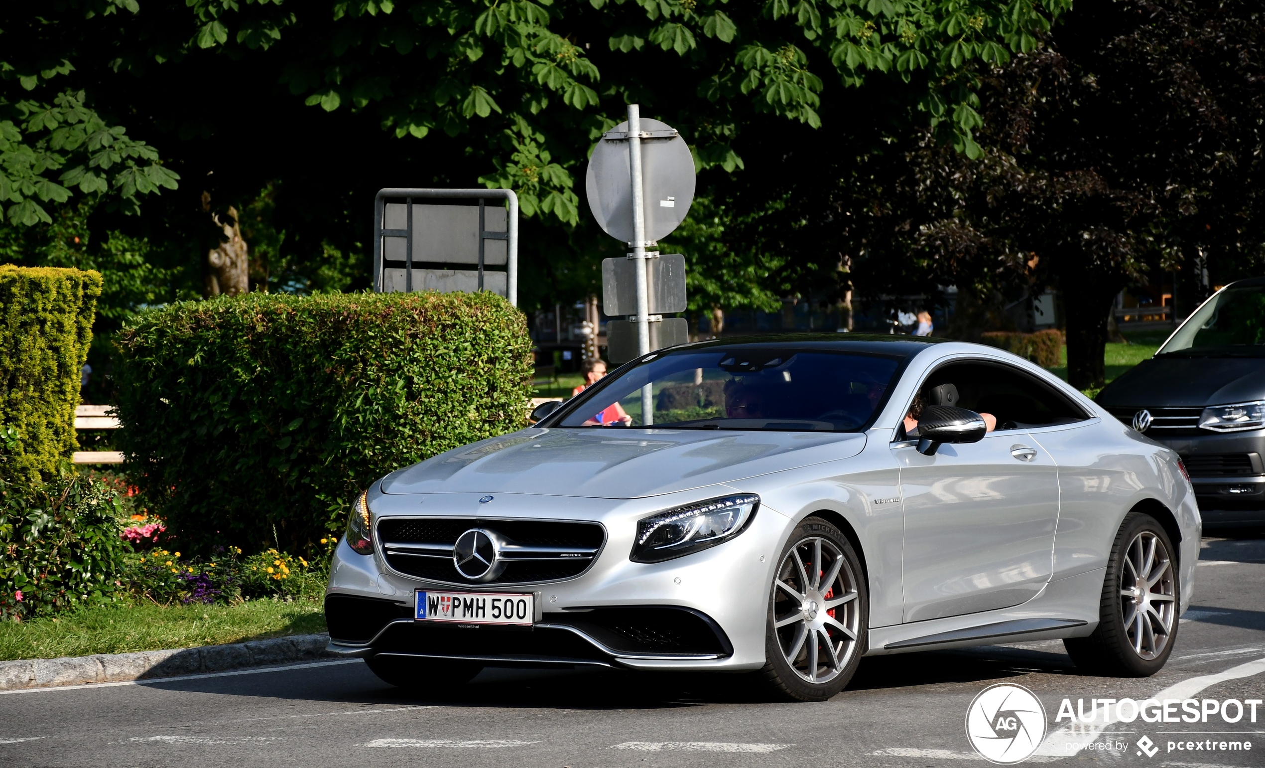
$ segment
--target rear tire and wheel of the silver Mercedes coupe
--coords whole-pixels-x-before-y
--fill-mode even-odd
[[[1064,639],[1068,655],[1087,674],[1155,674],[1173,653],[1180,595],[1169,534],[1155,517],[1130,512],[1107,561],[1098,628],[1088,638]]]

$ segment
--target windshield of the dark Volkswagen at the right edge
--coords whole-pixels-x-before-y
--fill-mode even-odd
[[[1159,354],[1265,356],[1265,286],[1227,288],[1208,300]]]

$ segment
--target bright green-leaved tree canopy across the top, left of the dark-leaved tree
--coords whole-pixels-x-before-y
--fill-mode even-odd
[[[698,168],[716,176],[703,196],[744,166],[775,162],[770,127],[835,130],[824,115],[873,109],[855,89],[875,78],[899,85],[903,97],[880,104],[889,119],[921,121],[978,154],[974,65],[1030,51],[1068,8],[191,0],[139,13],[135,0],[66,0],[0,11],[0,77],[14,104],[82,90],[108,121],[162,148],[159,168],[186,180],[140,224],[101,207],[94,228],[145,237],[192,266],[214,237],[199,211],[204,191],[243,210],[280,180],[272,225],[286,233],[299,275],[328,266],[330,249],[364,253],[363,201],[381,186],[510,186],[525,215],[586,228],[578,171],[629,101],[683,130]],[[572,239],[598,237],[588,233]],[[526,266],[545,269],[545,240],[559,234],[529,243]],[[591,254],[572,258],[578,266]],[[187,272],[196,285],[197,269]]]

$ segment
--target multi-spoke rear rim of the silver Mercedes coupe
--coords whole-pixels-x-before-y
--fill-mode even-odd
[[[1176,621],[1176,582],[1169,548],[1151,531],[1133,536],[1125,550],[1120,607],[1133,653],[1147,660],[1164,653]]]

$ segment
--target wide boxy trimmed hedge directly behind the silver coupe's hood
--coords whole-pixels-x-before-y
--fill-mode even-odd
[[[531,339],[490,292],[249,294],[143,313],[115,377],[173,545],[314,552],[373,480],[526,426]]]

